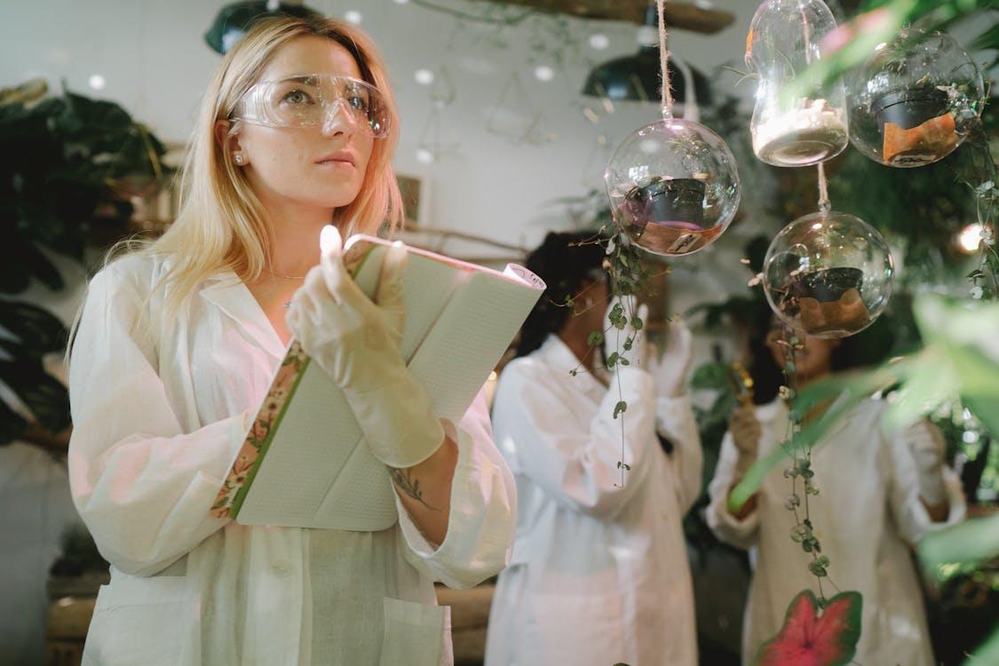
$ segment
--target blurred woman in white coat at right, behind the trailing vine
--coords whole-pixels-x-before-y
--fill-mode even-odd
[[[722,541],[750,549],[754,564],[742,627],[744,664],[780,631],[791,599],[805,588],[815,589],[809,556],[791,540],[794,514],[784,506],[791,494],[786,464],[763,479],[740,511],[727,506],[729,492],[746,470],[785,437],[788,407],[775,395],[784,365],[780,338],[774,328],[750,341],[756,399],[764,403],[735,411],[709,485],[708,524]],[[847,347],[859,343],[807,336],[795,356],[799,387],[843,369],[849,362]],[[964,497],[960,481],[944,464],[939,430],[920,421],[888,434],[881,425],[884,406],[879,400],[861,403],[833,424],[812,453],[819,494],[808,499],[811,521],[829,557],[831,581],[840,590],[863,595],[855,662],[932,666],[911,546],[926,530],[959,520]],[[830,597],[836,591],[831,583],[824,590]]]

